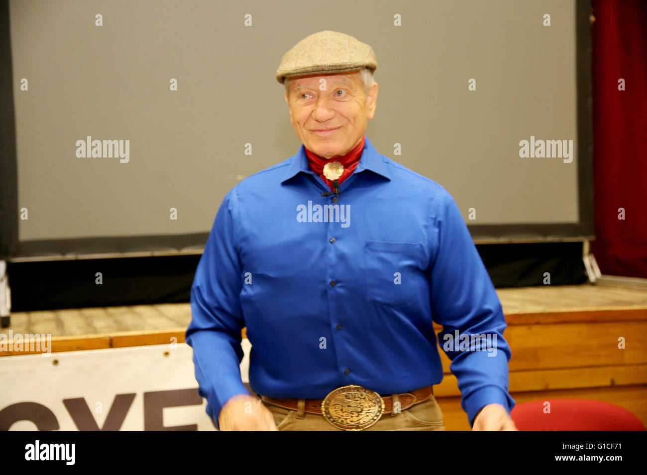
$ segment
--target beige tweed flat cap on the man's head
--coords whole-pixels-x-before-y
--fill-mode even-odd
[[[377,69],[373,48],[356,37],[325,30],[303,38],[283,55],[276,80],[283,84],[291,76],[351,72],[365,67]]]

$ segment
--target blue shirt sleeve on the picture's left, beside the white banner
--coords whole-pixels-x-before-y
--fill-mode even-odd
[[[191,289],[192,321],[186,343],[193,348],[199,394],[218,426],[227,399],[248,394],[241,379],[241,330],[245,326],[239,295],[242,271],[234,237],[236,192],[224,198],[204,247]]]

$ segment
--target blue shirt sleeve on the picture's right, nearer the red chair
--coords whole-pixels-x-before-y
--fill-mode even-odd
[[[461,390],[461,406],[472,425],[476,413],[487,404],[498,403],[508,411],[514,407],[508,392],[510,348],[503,339],[507,324],[492,280],[454,198],[443,188],[437,193],[437,203],[432,316],[443,325],[439,343],[452,360],[450,369]]]

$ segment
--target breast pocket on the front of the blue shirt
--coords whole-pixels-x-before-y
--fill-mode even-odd
[[[401,307],[415,301],[422,274],[422,246],[413,242],[366,241],[367,301]]]

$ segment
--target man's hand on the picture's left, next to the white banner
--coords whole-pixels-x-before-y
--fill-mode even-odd
[[[230,397],[220,410],[218,423],[220,430],[278,430],[268,408],[248,394]]]

